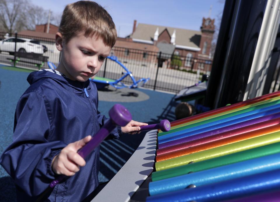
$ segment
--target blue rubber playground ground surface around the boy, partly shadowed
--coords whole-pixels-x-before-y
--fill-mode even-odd
[[[29,87],[27,76],[32,70],[0,65],[0,155],[13,139],[16,104]],[[109,109],[116,103],[124,105],[133,120],[149,124],[162,119],[175,120],[174,94],[144,88],[104,88],[98,92],[98,110],[108,117]],[[118,140],[103,141],[100,145],[100,182],[107,182],[121,169],[141,143],[146,132],[123,134]],[[0,166],[0,201],[16,201],[12,178]]]

